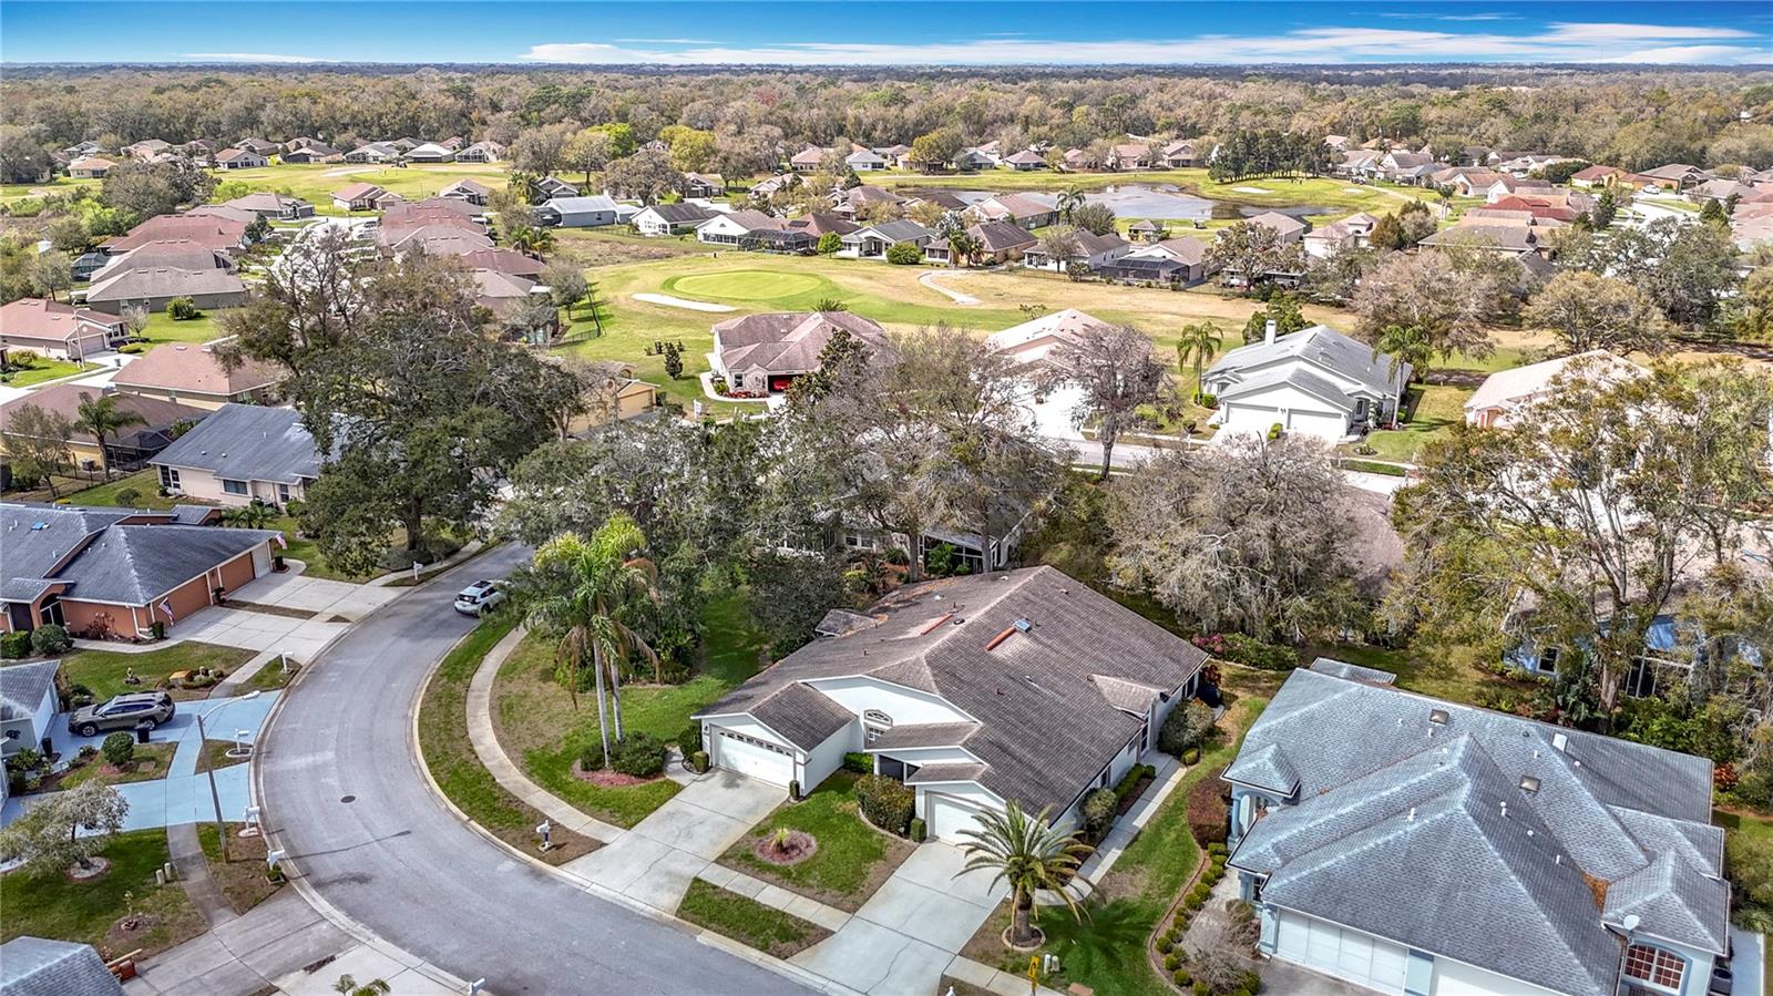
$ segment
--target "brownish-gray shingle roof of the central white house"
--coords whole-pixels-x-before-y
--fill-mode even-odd
[[[1094,675],[1174,691],[1206,654],[1051,567],[908,585],[879,626],[816,640],[707,712],[746,712],[778,689],[871,675],[938,695],[979,721],[979,782],[1037,812],[1064,810],[1138,732]],[[1016,622],[1027,620],[1027,631]],[[1002,643],[986,643],[1011,631]]]

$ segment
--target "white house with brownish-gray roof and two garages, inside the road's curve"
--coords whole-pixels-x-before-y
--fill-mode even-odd
[[[865,751],[933,840],[1018,803],[1080,824],[1186,702],[1206,654],[1051,567],[908,585],[697,718],[715,766],[808,792]]]

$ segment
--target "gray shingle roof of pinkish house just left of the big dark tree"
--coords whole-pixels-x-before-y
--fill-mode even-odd
[[[223,404],[149,463],[207,470],[229,480],[296,484],[321,475],[321,454],[301,413],[257,404]]]

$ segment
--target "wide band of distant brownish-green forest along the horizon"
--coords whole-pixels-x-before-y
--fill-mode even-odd
[[[0,121],[106,147],[298,135],[351,147],[452,135],[511,144],[539,126],[626,122],[715,133],[734,165],[762,147],[1087,145],[1271,128],[1578,156],[1624,168],[1773,167],[1773,73],[1603,67],[598,69],[7,67]],[[12,131],[18,136],[18,131]]]

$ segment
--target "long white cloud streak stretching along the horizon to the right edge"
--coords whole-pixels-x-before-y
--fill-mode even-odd
[[[1752,39],[1745,44],[1683,44]],[[780,43],[769,46],[626,48],[548,43],[527,62],[656,66],[1025,66],[1262,62],[1773,62],[1762,35],[1738,28],[1557,23],[1544,34],[1457,34],[1429,28],[1328,27],[1271,35],[1034,41],[982,37],[927,44]]]

